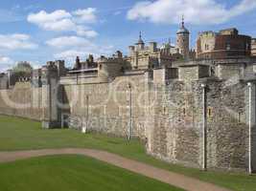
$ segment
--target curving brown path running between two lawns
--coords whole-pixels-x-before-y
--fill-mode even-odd
[[[211,183],[203,182],[183,175],[159,169],[142,162],[125,159],[120,156],[90,149],[43,149],[35,151],[0,152],[0,162],[14,161],[17,159],[29,159],[33,157],[51,155],[75,154],[99,159],[112,165],[128,169],[137,174],[144,175],[154,180],[160,180],[188,191],[228,191]]]

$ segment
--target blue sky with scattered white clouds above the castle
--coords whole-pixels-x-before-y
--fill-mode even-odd
[[[182,14],[192,47],[202,31],[236,27],[256,37],[256,0],[1,1],[0,70],[17,61],[37,67],[88,53],[127,53],[140,31],[146,42],[175,43]]]

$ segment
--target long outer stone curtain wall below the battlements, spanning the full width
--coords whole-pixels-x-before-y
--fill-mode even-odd
[[[149,154],[159,159],[201,168],[204,151],[202,118],[206,115],[207,168],[248,168],[246,82],[240,80],[230,83],[228,80],[215,78],[158,82],[150,76],[148,73],[125,74],[109,83],[83,83],[78,78],[66,77],[59,84],[58,90],[52,88],[53,91],[58,91],[59,101],[65,104],[57,110],[58,120],[60,116],[67,115],[73,121],[70,124],[76,128],[81,129],[87,124],[90,132],[125,138],[128,137],[131,121],[132,136],[146,142]],[[202,83],[207,84],[205,111],[202,105]],[[49,95],[55,95],[48,94],[47,90],[47,85],[35,88],[24,82],[16,83],[11,90],[1,90],[1,114],[43,120],[50,113],[45,108],[45,102],[50,101]],[[14,107],[17,104],[8,105],[5,96],[15,103],[26,103],[28,107],[19,109]],[[53,101],[52,97],[50,104],[56,107],[57,103]],[[255,101],[253,107],[255,126]],[[77,123],[76,119],[79,120]],[[254,127],[254,169],[255,135]]]

